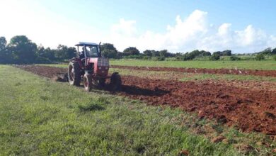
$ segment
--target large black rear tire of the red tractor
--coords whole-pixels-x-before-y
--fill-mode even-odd
[[[81,68],[78,62],[70,62],[68,67],[69,84],[79,86],[81,83]]]

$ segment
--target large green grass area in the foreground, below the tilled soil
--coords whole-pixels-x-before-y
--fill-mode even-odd
[[[104,91],[85,92],[0,66],[0,155],[241,155],[234,143],[265,139],[200,120],[177,108],[146,106]],[[211,143],[195,128],[214,127],[229,143]],[[273,146],[272,146],[273,147]],[[256,147],[268,154],[266,147]]]

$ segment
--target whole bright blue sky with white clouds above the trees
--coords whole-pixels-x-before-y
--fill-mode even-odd
[[[274,0],[0,0],[0,36],[50,48],[85,41],[120,51],[259,52],[276,48],[275,8]]]

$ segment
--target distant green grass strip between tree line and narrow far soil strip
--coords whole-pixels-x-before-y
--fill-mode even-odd
[[[238,68],[275,70],[276,61],[150,61],[150,60],[110,60],[110,65],[147,67],[192,67],[192,68]]]

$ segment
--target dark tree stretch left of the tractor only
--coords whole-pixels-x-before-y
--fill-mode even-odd
[[[58,45],[56,49],[36,45],[25,35],[16,35],[7,44],[6,38],[0,37],[0,63],[29,64],[50,63],[74,57],[75,48]]]

